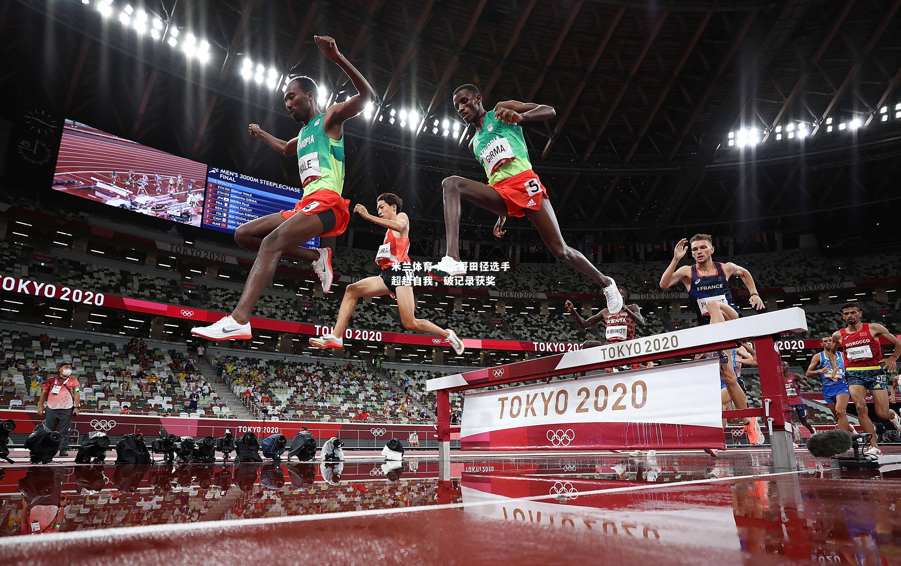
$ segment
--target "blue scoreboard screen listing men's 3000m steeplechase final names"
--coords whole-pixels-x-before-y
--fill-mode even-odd
[[[304,190],[210,167],[206,175],[204,228],[234,233],[241,224],[261,216],[294,210]],[[313,238],[303,247],[319,247]]]

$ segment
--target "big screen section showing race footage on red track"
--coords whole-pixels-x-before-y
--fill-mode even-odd
[[[206,166],[67,120],[53,189],[200,226]]]

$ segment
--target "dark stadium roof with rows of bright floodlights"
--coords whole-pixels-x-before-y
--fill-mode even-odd
[[[864,218],[901,198],[891,191],[901,157],[899,7],[16,0],[0,8],[0,86],[7,109],[38,104],[59,120],[296,184],[291,160],[247,124],[296,135],[278,88],[292,68],[320,82],[323,101],[352,94],[314,45],[314,33],[329,34],[379,95],[346,126],[345,195],[366,202],[390,190],[432,220],[422,229],[439,223],[441,179],[484,178],[451,102],[457,85],[474,83],[490,104],[556,108],[524,132],[561,225],[662,238],[698,219],[773,226],[849,207]],[[469,205],[464,214],[493,224]]]

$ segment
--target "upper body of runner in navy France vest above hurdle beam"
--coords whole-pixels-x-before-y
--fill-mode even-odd
[[[676,283],[685,285],[691,306],[697,314],[697,324],[716,324],[724,320],[737,319],[741,315],[729,291],[729,278],[738,275],[751,292],[751,306],[763,309],[763,301],[751,273],[741,265],[732,262],[721,264],[711,261],[714,255],[714,238],[709,234],[696,234],[691,238],[691,255],[695,265],[683,265],[676,269],[688,250],[688,242],[682,238],[673,249],[673,258],[666,271],[660,276],[660,289],[669,289]]]

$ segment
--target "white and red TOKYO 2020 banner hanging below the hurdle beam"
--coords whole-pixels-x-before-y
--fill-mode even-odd
[[[688,400],[690,402],[680,402]],[[719,361],[469,393],[463,450],[724,448]]]

